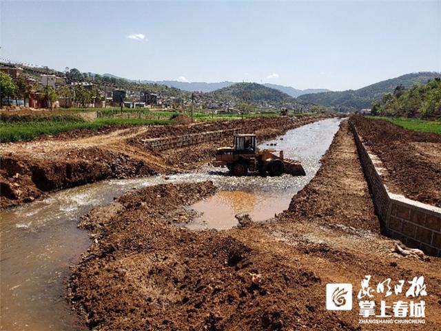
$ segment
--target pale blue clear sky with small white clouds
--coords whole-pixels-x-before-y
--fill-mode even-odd
[[[357,89],[441,71],[437,1],[5,1],[0,57],[129,79]]]

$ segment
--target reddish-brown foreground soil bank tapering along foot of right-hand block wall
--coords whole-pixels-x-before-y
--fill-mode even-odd
[[[402,330],[359,325],[357,301],[351,311],[325,309],[327,283],[352,283],[358,292],[369,274],[375,283],[424,276],[426,323],[418,326],[438,330],[441,259],[391,252],[347,122],[316,177],[273,221],[220,232],[172,224],[185,205],[213,192],[209,182],[154,186],[83,219],[96,240],[73,268],[70,300],[90,328]]]

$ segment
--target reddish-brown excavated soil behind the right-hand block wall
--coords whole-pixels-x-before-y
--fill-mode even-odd
[[[352,117],[365,145],[380,157],[389,188],[441,207],[441,136],[406,130],[389,121]]]

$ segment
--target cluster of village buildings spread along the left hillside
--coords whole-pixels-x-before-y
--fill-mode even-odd
[[[92,77],[66,79],[62,74],[51,74],[43,70],[31,70],[14,66],[0,66],[1,72],[6,72],[13,80],[23,77],[30,87],[30,92],[24,99],[3,99],[3,104],[16,106],[28,106],[30,108],[104,108],[106,106],[123,106],[125,108],[163,108],[163,109],[185,109],[190,106],[194,109],[208,109],[214,113],[240,113],[252,111],[278,111],[278,106],[270,103],[262,103],[260,106],[250,106],[245,102],[236,99],[225,101],[219,100],[213,95],[204,93],[182,93],[180,97],[172,97],[145,88],[134,86],[130,89],[116,88],[115,84],[107,83]],[[81,87],[81,88],[79,88]],[[57,101],[51,102],[47,91],[51,88],[57,95]],[[87,93],[90,91],[90,93]],[[81,92],[81,93],[80,93]],[[4,96],[3,96],[4,97]],[[296,108],[295,105],[283,105],[289,110]],[[244,109],[247,108],[247,109]]]

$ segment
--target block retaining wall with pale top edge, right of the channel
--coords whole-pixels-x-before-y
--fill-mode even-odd
[[[382,162],[368,152],[353,123],[350,126],[382,232],[409,247],[441,257],[441,208],[389,192],[381,177],[386,172]]]

